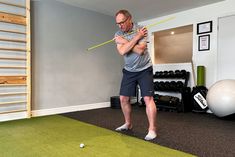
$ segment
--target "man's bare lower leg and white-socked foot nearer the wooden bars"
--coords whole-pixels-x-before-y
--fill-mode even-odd
[[[121,95],[120,102],[122,113],[125,118],[125,123],[122,126],[116,128],[116,131],[129,130],[132,128],[130,97]]]

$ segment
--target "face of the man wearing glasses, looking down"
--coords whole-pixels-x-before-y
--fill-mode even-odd
[[[116,16],[116,24],[123,32],[128,32],[131,29],[131,18],[118,14]]]

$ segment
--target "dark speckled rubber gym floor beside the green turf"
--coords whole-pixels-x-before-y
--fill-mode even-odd
[[[63,114],[114,130],[123,122],[120,109],[104,108]],[[200,157],[235,156],[235,118],[211,114],[158,111],[158,138],[153,143]],[[133,107],[133,129],[124,134],[143,139],[147,133],[145,107]]]

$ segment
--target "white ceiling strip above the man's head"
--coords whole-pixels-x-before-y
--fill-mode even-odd
[[[224,0],[58,0],[80,8],[114,16],[120,9],[131,12],[136,22],[217,3]]]

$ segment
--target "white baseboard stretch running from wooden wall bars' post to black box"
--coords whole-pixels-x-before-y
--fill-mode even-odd
[[[110,107],[110,102],[34,110],[32,111],[32,117],[62,114],[62,113],[76,112],[76,111],[85,111],[85,110],[92,110],[92,109],[99,109],[99,108],[106,108],[106,107]]]

